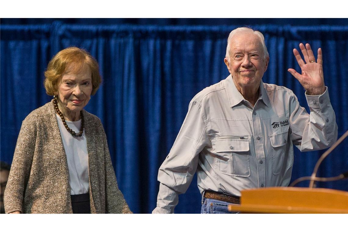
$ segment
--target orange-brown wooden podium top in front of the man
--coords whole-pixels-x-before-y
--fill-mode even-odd
[[[270,214],[348,214],[348,192],[302,187],[242,190],[240,205],[230,211]]]

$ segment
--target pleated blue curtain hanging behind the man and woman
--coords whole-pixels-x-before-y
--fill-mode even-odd
[[[223,62],[231,26],[6,25],[1,31],[1,160],[11,163],[22,120],[50,101],[43,87],[48,61],[77,46],[100,64],[103,84],[86,110],[103,122],[119,187],[135,213],[156,207],[158,168],[193,96],[228,76]],[[270,63],[263,82],[290,88],[306,107],[304,90],[287,69],[300,71],[292,49],[308,42],[323,49],[324,78],[339,137],[348,129],[348,26],[251,25],[266,40]],[[325,159],[318,176],[348,170],[348,140]],[[296,148],[292,180],[309,176],[324,151]],[[197,178],[180,195],[176,213],[199,213]],[[308,186],[308,182],[298,186]],[[348,181],[318,183],[348,191]]]

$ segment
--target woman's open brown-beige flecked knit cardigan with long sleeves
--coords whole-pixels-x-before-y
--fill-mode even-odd
[[[83,113],[91,213],[132,213],[117,186],[103,125]],[[68,163],[52,101],[22,123],[4,204],[6,213],[72,213]]]

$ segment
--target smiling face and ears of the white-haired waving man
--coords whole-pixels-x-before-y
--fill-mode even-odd
[[[268,61],[269,57],[264,58],[260,39],[253,33],[234,35],[230,40],[229,58],[224,59],[238,90],[257,88],[267,70]]]

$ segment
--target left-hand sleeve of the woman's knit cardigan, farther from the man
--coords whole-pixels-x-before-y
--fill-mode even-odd
[[[19,131],[4,193],[6,213],[17,210],[23,212],[24,191],[29,179],[36,144],[37,129],[35,118],[35,115],[29,114],[22,122],[22,127]]]

